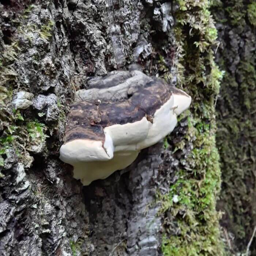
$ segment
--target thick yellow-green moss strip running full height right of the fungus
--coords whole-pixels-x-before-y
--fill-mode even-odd
[[[180,118],[187,117],[187,133],[178,141],[169,136],[169,147],[165,145],[176,156],[184,148],[189,153],[180,158],[178,178],[169,195],[159,196],[166,216],[162,251],[163,255],[224,255],[219,213],[215,210],[221,185],[215,143],[215,101],[223,75],[211,49],[216,44],[217,30],[209,1],[178,3],[177,86],[185,89],[193,101],[189,111]],[[168,78],[167,73],[164,76]]]

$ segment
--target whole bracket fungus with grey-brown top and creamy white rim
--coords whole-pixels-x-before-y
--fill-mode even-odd
[[[140,71],[113,71],[75,93],[60,159],[83,185],[129,166],[173,131],[191,97]]]

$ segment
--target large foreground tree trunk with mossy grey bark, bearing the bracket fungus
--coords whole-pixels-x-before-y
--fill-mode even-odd
[[[0,0],[0,253],[224,255],[209,3]],[[172,135],[89,186],[59,160],[88,76],[142,69],[191,95]],[[22,93],[22,92],[26,92]]]

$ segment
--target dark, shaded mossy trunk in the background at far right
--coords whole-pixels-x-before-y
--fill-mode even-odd
[[[256,3],[214,1],[217,61],[225,70],[217,109],[217,145],[221,157],[222,191],[218,208],[225,214],[233,251],[245,252],[256,225]],[[256,254],[255,239],[251,244]]]

